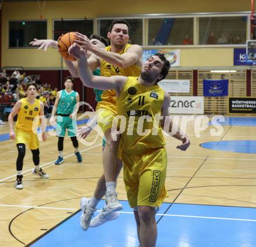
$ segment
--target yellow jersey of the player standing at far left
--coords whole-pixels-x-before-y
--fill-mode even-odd
[[[32,131],[34,118],[37,117],[40,112],[40,101],[35,99],[34,104],[30,104],[29,101],[27,101],[27,97],[20,101],[22,102],[22,106],[18,112],[15,128]]]

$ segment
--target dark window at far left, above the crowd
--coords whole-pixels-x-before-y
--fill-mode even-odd
[[[30,47],[37,39],[47,39],[47,21],[9,21],[9,47]]]

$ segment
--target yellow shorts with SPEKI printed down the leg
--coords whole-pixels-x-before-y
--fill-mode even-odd
[[[122,151],[123,180],[131,208],[160,206],[165,199],[167,155],[165,147],[129,154]]]

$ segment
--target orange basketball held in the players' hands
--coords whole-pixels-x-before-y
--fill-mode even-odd
[[[67,52],[69,50],[69,46],[71,46],[73,44],[74,39],[76,39],[74,37],[74,32],[67,32],[58,40],[59,53],[61,53],[61,56],[65,60],[76,61],[76,59],[74,59],[74,57],[70,56],[69,53]]]

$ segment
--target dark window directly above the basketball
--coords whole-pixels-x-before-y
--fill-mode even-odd
[[[54,20],[54,40],[66,32],[80,32],[90,37],[93,34],[93,20]]]

